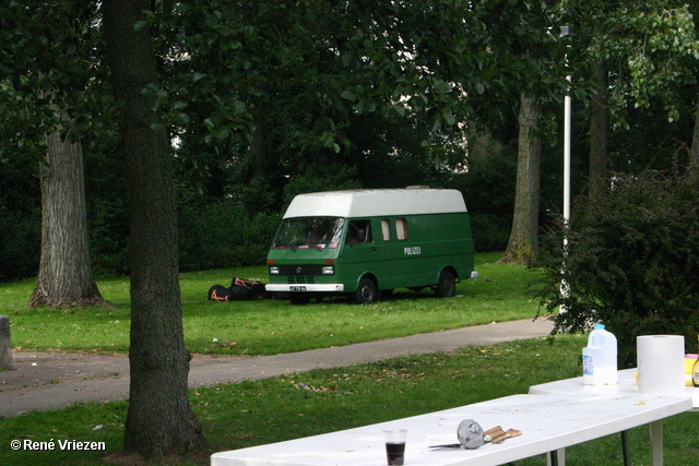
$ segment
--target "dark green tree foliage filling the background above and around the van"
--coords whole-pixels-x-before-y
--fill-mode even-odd
[[[69,105],[60,108],[69,109],[72,134],[88,148],[93,264],[121,274],[128,272],[121,195],[126,175],[112,155],[115,106],[107,69],[100,65],[96,3],[62,0],[50,5],[55,14],[48,14],[54,11],[49,4],[36,8],[23,0],[0,5],[0,59],[8,70],[0,80],[0,166],[8,180],[14,180],[0,192],[1,220],[14,231],[0,251],[13,264],[4,278],[26,276],[38,265],[32,253],[37,251],[33,229],[38,227],[39,206],[36,186],[32,189],[37,170],[19,157],[43,154],[42,134],[50,118],[36,96],[44,86],[64,91],[58,95]],[[609,134],[611,167],[667,168],[673,157],[682,162],[684,153],[676,147],[688,143],[691,126],[686,123],[697,108],[695,59],[678,52],[687,51],[694,38],[694,29],[682,23],[687,10],[670,1],[545,7],[528,0],[151,2],[137,27],[153,32],[163,77],[145,91],[156,110],[153,128],[167,129],[177,141],[173,162],[180,226],[187,231],[180,244],[182,267],[221,264],[215,244],[226,235],[259,241],[238,246],[240,253],[224,254],[230,265],[250,260],[242,251],[264,250],[269,241],[259,227],[279,215],[289,195],[324,187],[459,187],[474,224],[481,225],[474,228],[481,236],[476,246],[502,250],[514,186],[502,167],[513,178],[507,157],[514,157],[511,121],[517,120],[520,92],[550,91],[552,103],[544,103],[542,118],[547,124],[542,129],[544,212],[559,203],[558,147],[553,146],[560,121],[556,99],[562,96],[566,73],[574,71],[573,124],[582,128],[588,110],[581,84],[594,53],[609,58],[613,88],[625,92],[624,99],[615,100],[621,105],[615,107],[619,124]],[[696,7],[688,8],[694,13]],[[589,34],[595,21],[603,25],[599,38]],[[578,34],[568,48],[556,37],[561,24],[572,24]],[[675,27],[683,24],[682,31]],[[680,37],[685,40],[677,48]],[[566,52],[571,68],[562,70]],[[650,63],[639,64],[639,70],[654,70],[639,76],[679,73],[667,73],[678,77],[665,80],[662,88],[648,87],[664,91],[647,93],[647,106],[635,105],[632,86],[626,84],[631,55]],[[43,82],[38,71],[49,68],[61,71]],[[666,118],[671,100],[679,105],[679,120],[673,124]],[[505,151],[466,155],[464,134],[475,129],[487,129]],[[262,170],[254,168],[256,138],[266,154]],[[573,168],[580,170],[574,190],[584,183],[579,154],[587,140],[587,131],[574,133]],[[17,198],[23,202],[15,202]],[[236,225],[223,228],[215,217],[201,215],[208,208],[212,215],[230,212]],[[239,218],[241,226],[257,225],[254,231],[239,232]],[[210,224],[198,228],[197,222]],[[189,238],[208,231],[212,237],[204,242],[211,253],[202,254],[201,243]]]

